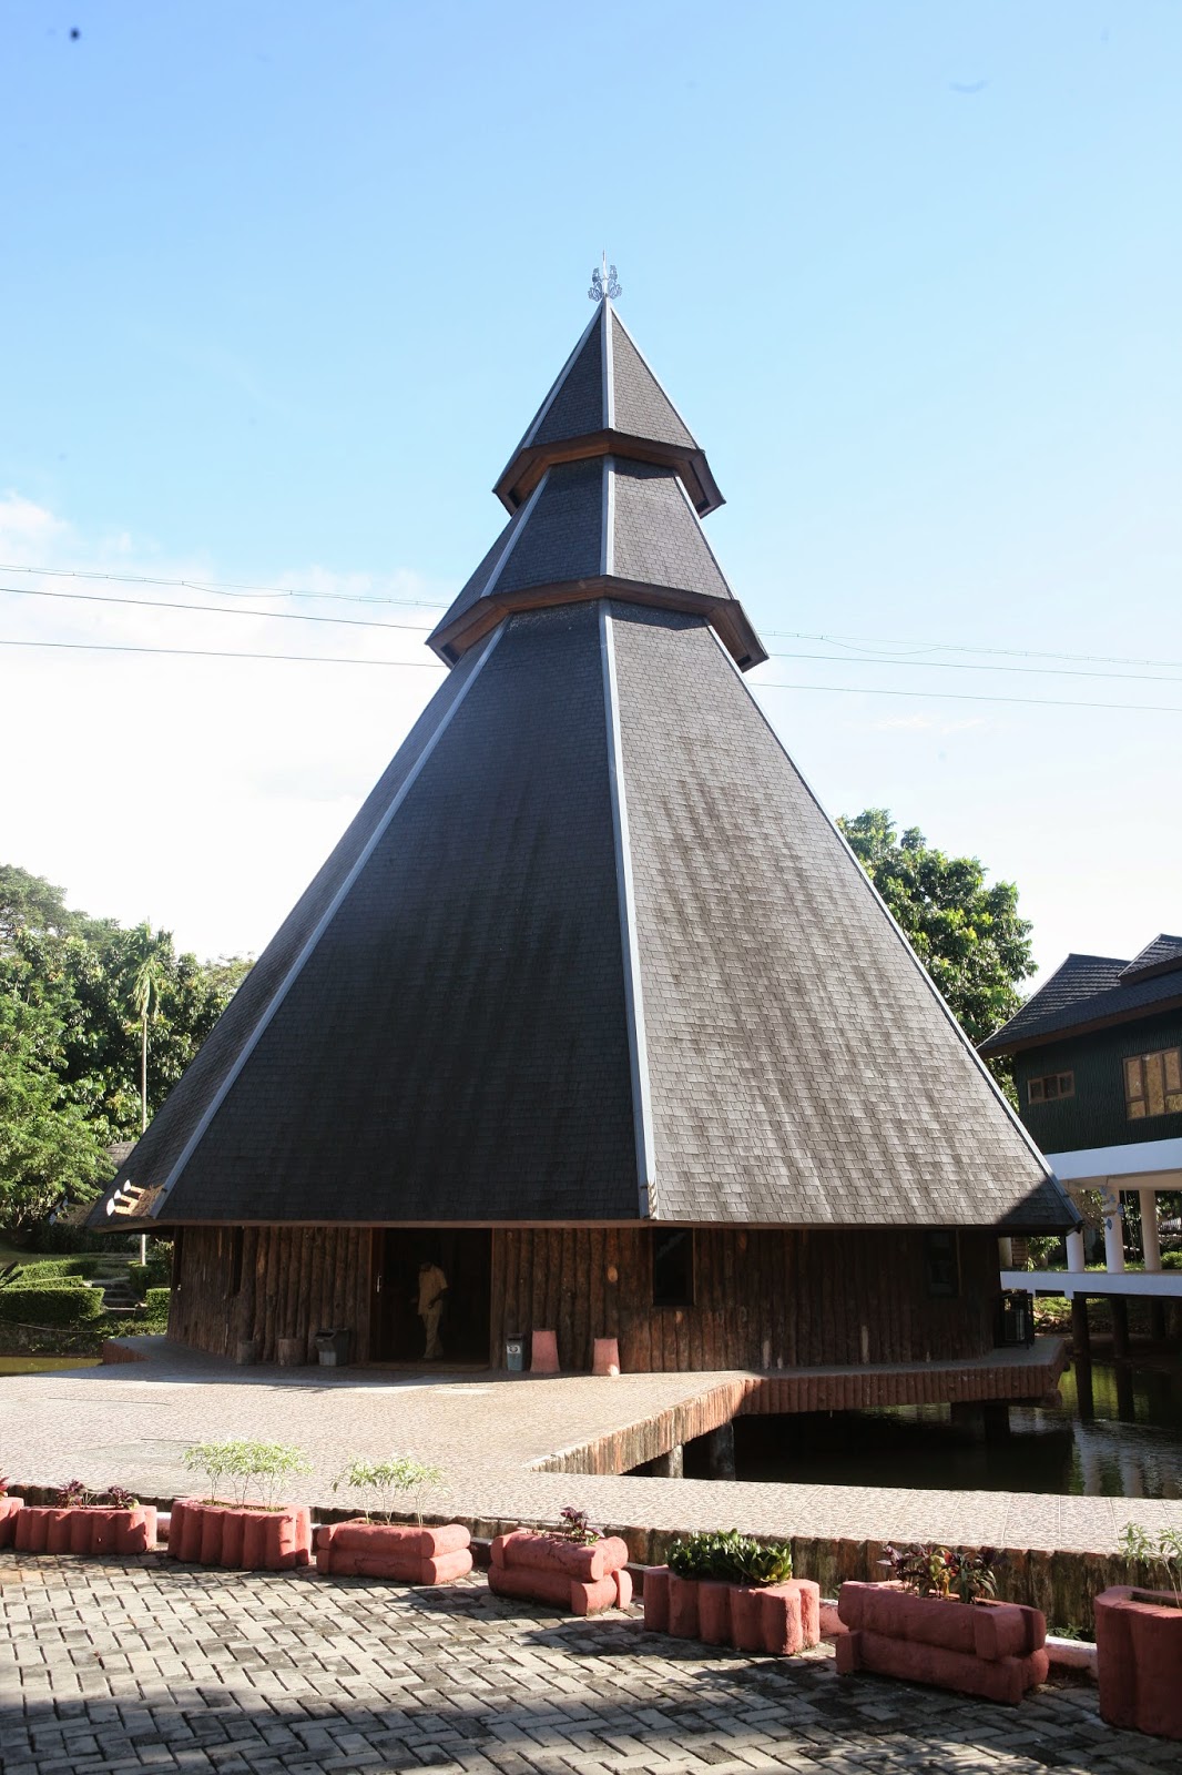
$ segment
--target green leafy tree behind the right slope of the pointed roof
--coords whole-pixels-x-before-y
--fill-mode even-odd
[[[1013,882],[987,886],[976,857],[930,848],[916,825],[898,838],[886,808],[838,825],[964,1033],[983,1042],[1019,1008],[1019,982],[1035,973]],[[1006,1070],[996,1076],[1005,1081]]]

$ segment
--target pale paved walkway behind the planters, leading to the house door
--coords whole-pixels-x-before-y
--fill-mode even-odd
[[[1056,1498],[996,1491],[721,1484],[547,1473],[534,1463],[626,1431],[735,1376],[442,1376],[406,1370],[236,1369],[165,1340],[147,1363],[0,1379],[0,1473],[27,1484],[121,1484],[140,1496],[192,1489],[181,1464],[197,1440],[300,1443],[316,1505],[359,1502],[332,1482],[350,1456],[410,1454],[444,1468],[428,1511],[467,1521],[556,1521],[566,1503],[607,1526],[737,1526],[745,1534],[847,1541],[1115,1551],[1131,1509],[1148,1528],[1182,1526],[1182,1502]]]

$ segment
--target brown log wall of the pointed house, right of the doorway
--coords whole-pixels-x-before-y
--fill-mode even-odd
[[[960,1230],[960,1294],[926,1292],[921,1228],[694,1232],[694,1305],[653,1306],[651,1228],[493,1232],[492,1353],[556,1329],[564,1370],[596,1337],[632,1372],[948,1361],[994,1347],[997,1237]]]

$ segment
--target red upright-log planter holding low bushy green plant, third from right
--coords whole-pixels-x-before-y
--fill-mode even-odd
[[[653,1566],[644,1573],[644,1626],[678,1640],[788,1658],[820,1642],[820,1585],[809,1578],[715,1583]]]

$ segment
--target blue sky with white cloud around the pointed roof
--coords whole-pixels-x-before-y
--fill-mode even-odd
[[[1131,955],[1182,928],[1180,66],[1150,0],[9,0],[0,586],[428,623],[605,245],[823,804],[1015,879],[1045,967]],[[14,591],[0,639],[422,653]],[[257,950],[435,682],[0,648],[0,854]]]

